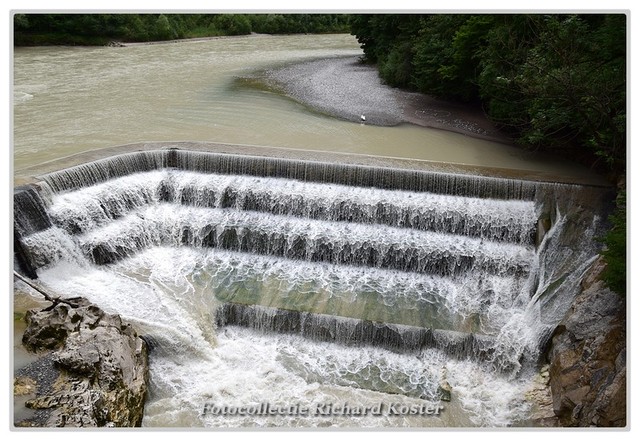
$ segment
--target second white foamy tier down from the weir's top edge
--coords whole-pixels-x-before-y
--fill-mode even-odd
[[[257,232],[271,240],[282,238],[289,246],[293,246],[296,238],[306,238],[304,255],[313,253],[317,242],[336,250],[367,245],[382,251],[396,247],[400,253],[415,249],[420,255],[439,253],[445,257],[457,254],[472,256],[479,261],[495,261],[496,265],[503,265],[505,270],[514,263],[526,265],[533,255],[531,247],[457,235],[173,204],[159,204],[133,211],[103,228],[80,236],[79,241],[87,248],[101,244],[111,249],[133,247],[134,250],[136,247],[161,245],[164,242],[179,245],[186,228],[193,233],[191,240],[196,244],[205,241],[210,233],[219,236],[227,229],[237,231],[238,242],[242,241],[244,233],[250,232]],[[264,248],[267,252],[270,247],[275,247],[271,241],[264,243],[259,238],[256,240],[253,246]]]

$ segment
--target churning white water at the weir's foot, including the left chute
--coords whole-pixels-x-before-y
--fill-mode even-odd
[[[209,257],[203,256],[203,253]],[[153,248],[110,267],[60,261],[41,280],[65,295],[83,295],[132,321],[153,342],[147,426],[204,427],[440,427],[501,426],[525,415],[525,380],[490,364],[453,360],[435,349],[401,354],[347,347],[294,335],[236,327],[215,329],[218,301],[196,268],[215,251]],[[206,265],[205,265],[206,267]],[[454,400],[440,402],[443,375]],[[381,416],[202,415],[221,406],[371,407]],[[436,415],[396,415],[402,406],[443,406]]]

